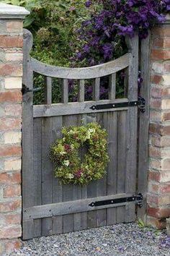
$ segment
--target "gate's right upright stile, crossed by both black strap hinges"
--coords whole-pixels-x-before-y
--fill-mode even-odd
[[[138,35],[129,38],[128,46],[132,54],[129,67],[128,99],[129,101],[138,100]],[[127,173],[126,173],[126,192],[136,193],[137,178],[137,129],[138,129],[138,108],[128,108],[128,135],[127,135]],[[135,221],[135,204],[128,204],[126,207],[125,221]]]

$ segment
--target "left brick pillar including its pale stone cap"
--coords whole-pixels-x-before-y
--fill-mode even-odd
[[[22,7],[0,4],[0,255],[19,247],[21,228]]]

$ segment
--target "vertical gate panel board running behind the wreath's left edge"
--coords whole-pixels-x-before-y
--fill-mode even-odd
[[[53,127],[53,141],[58,140],[62,137],[61,129],[63,126],[63,117],[56,116],[52,119],[52,127]],[[55,166],[53,166],[54,171]],[[63,202],[63,184],[59,182],[57,178],[52,178],[53,182],[53,203]],[[56,216],[52,218],[53,222],[53,234],[61,234],[63,233],[63,216]]]

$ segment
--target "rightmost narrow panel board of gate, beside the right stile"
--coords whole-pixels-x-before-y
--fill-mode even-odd
[[[126,176],[126,111],[118,113],[117,127],[117,194],[125,193]],[[124,206],[117,208],[117,223],[125,220]]]

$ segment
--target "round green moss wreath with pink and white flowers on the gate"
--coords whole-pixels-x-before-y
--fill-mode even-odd
[[[97,123],[62,129],[63,138],[51,146],[50,156],[55,164],[55,177],[63,184],[86,185],[106,174],[109,156],[107,132]],[[86,148],[84,161],[79,152]]]

